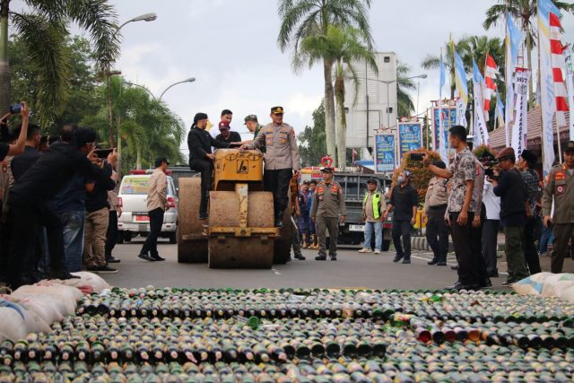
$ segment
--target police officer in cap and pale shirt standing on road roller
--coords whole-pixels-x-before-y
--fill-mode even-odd
[[[283,123],[283,107],[271,109],[273,122],[264,126],[251,144],[244,144],[241,150],[265,147],[265,190],[273,193],[275,227],[283,226],[283,212],[287,208],[289,182],[293,175],[299,175],[301,168],[295,130]],[[295,171],[293,173],[293,170]]]

